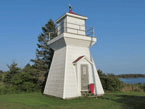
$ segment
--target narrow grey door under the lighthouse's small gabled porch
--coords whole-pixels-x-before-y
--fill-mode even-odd
[[[87,91],[88,90],[88,84],[89,84],[88,65],[87,64],[82,64],[81,65],[81,90],[82,91]]]

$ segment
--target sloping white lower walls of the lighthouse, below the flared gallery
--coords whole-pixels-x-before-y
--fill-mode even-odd
[[[83,58],[73,63],[80,56]],[[63,99],[80,97],[83,84],[81,65],[88,65],[88,84],[95,84],[94,94],[104,94],[95,63],[90,59],[89,48],[78,46],[65,46],[55,50],[44,94]]]

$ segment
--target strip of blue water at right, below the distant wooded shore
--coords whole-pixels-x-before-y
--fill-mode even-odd
[[[128,84],[145,83],[145,78],[120,78],[120,80]]]

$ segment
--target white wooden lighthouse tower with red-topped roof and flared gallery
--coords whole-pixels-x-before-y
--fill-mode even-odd
[[[96,38],[89,36],[92,29],[87,30],[87,19],[70,10],[56,21],[57,37],[48,42],[54,55],[44,94],[63,99],[75,98],[81,96],[81,92],[88,91],[89,84],[94,84],[95,95],[104,94],[90,56],[89,48],[95,44]]]

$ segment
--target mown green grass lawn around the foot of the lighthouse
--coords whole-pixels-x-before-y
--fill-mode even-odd
[[[102,97],[62,100],[41,93],[0,95],[0,109],[145,109],[145,92],[108,93]]]

